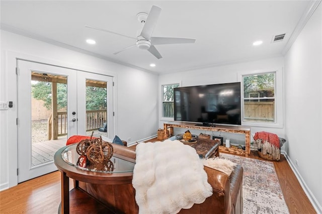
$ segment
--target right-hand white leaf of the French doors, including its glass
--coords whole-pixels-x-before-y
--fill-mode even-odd
[[[77,71],[78,135],[113,139],[113,109],[113,77]]]

